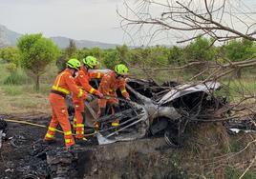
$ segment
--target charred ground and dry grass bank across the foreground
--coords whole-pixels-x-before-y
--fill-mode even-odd
[[[13,116],[7,116],[12,117]],[[19,120],[48,125],[49,116]],[[0,178],[237,178],[255,156],[256,136],[229,136],[222,124],[197,124],[188,129],[182,148],[170,149],[163,138],[97,146],[95,139],[66,151],[57,142],[41,142],[45,128],[8,123],[7,140],[0,150]],[[246,178],[256,176],[252,164]]]

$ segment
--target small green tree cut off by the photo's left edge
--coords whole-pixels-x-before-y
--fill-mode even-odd
[[[13,63],[16,66],[19,65],[19,50],[15,47],[8,47],[0,50],[0,58],[4,59],[8,63]]]

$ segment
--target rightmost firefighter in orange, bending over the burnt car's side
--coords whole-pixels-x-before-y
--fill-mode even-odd
[[[129,70],[125,65],[119,64],[115,67],[115,70],[111,70],[102,78],[98,89],[106,97],[104,99],[98,99],[99,117],[106,114],[107,104],[114,109],[114,112],[120,111],[117,100],[117,89],[120,89],[121,94],[125,99],[130,100],[129,93],[125,88],[125,78],[127,77],[128,72]],[[98,128],[98,125],[98,123],[95,123],[96,128]],[[119,125],[119,120],[116,119],[111,125],[117,127]]]

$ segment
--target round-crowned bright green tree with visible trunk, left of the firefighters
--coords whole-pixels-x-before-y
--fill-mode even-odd
[[[35,89],[39,89],[40,75],[46,66],[53,62],[59,54],[58,48],[51,39],[42,34],[23,35],[17,43],[21,55],[21,67],[32,73]]]

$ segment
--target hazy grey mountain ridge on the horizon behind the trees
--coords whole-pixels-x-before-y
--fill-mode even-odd
[[[18,38],[22,36],[22,34],[17,33],[12,30],[8,30],[5,26],[0,25],[0,48],[15,46]],[[65,49],[69,46],[70,38],[67,37],[50,37],[53,42],[60,49]],[[74,40],[74,39],[73,39]],[[102,42],[88,41],[88,40],[75,40],[75,45],[77,49],[82,48],[95,48],[98,47],[100,49],[114,49],[117,44],[107,44]]]

